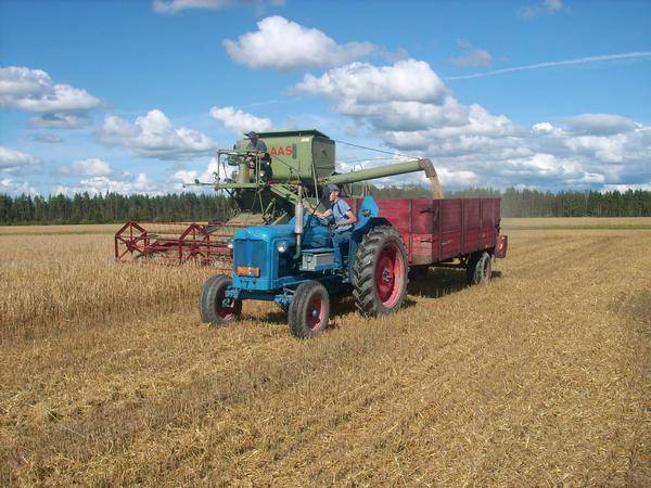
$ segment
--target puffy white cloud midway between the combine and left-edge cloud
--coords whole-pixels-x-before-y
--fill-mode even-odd
[[[137,117],[133,123],[107,115],[100,141],[128,149],[138,156],[161,159],[194,157],[215,150],[215,143],[207,136],[186,127],[174,127],[158,110]]]

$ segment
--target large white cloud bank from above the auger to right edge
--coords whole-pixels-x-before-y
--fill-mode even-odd
[[[331,101],[334,112],[387,149],[431,157],[448,189],[558,190],[651,180],[651,127],[611,114],[519,127],[480,104],[460,103],[422,61],[352,63],[305,75],[294,90]],[[418,175],[408,178],[422,182]]]

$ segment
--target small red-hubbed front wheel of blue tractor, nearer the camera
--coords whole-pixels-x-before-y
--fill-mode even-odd
[[[296,337],[309,338],[323,332],[330,318],[330,297],[326,287],[314,280],[301,283],[288,318],[290,331]]]

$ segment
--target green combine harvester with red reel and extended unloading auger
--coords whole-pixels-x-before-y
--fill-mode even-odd
[[[232,237],[251,226],[286,223],[297,203],[319,205],[322,189],[343,187],[345,195],[361,197],[366,182],[376,178],[425,171],[434,196],[443,197],[429,159],[387,165],[347,174],[335,171],[335,143],[318,130],[260,132],[268,153],[247,150],[248,140],[217,153],[214,183],[200,183],[227,192],[234,215],[226,222],[125,223],[115,234],[116,260],[154,260],[162,264],[195,262],[230,270]]]

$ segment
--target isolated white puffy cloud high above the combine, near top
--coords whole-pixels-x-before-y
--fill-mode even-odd
[[[319,29],[304,27],[279,15],[264,18],[257,26],[258,30],[245,33],[237,40],[224,40],[231,59],[251,68],[289,72],[340,66],[378,49],[371,42],[339,44]]]

